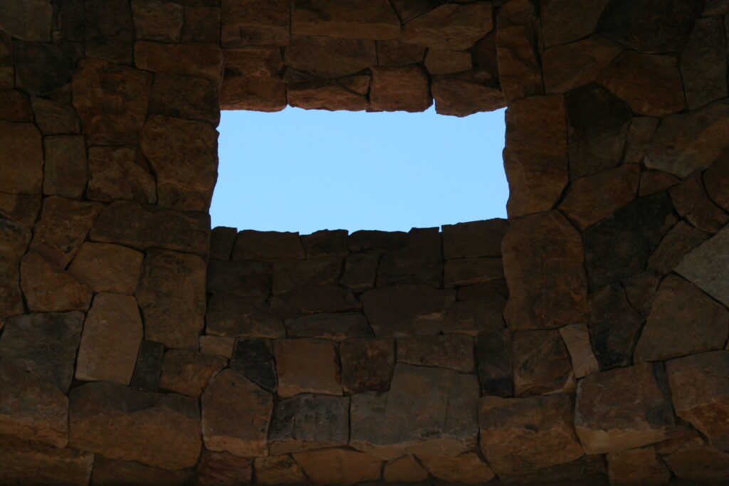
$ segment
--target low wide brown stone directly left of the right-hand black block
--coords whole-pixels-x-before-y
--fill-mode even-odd
[[[397,362],[472,373],[473,338],[464,334],[400,337]]]

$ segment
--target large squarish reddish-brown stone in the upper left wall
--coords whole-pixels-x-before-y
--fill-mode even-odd
[[[102,59],[79,61],[71,89],[87,143],[137,144],[151,88],[148,72]]]

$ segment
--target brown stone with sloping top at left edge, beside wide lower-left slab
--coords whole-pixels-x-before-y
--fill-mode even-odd
[[[61,390],[4,362],[0,384],[0,434],[66,447],[69,399]]]

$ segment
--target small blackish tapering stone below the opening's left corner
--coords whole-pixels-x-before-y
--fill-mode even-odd
[[[230,368],[243,373],[249,380],[266,391],[276,391],[276,361],[273,359],[270,342],[258,339],[235,341]]]

